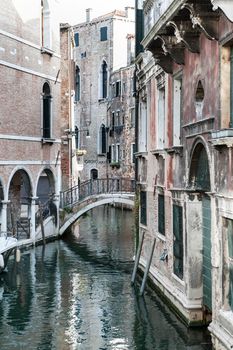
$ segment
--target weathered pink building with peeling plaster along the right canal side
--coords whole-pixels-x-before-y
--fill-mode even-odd
[[[233,346],[233,4],[146,0],[138,77],[141,267],[189,325]]]

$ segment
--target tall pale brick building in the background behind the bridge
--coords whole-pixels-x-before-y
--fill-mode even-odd
[[[75,126],[78,149],[86,150],[81,180],[107,176],[107,108],[112,72],[133,51],[134,9],[114,11],[75,25]]]

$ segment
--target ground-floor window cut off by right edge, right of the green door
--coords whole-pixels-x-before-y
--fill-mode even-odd
[[[224,295],[225,303],[233,311],[233,220],[223,218],[225,246]]]

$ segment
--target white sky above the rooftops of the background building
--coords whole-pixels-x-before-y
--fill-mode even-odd
[[[60,0],[60,21],[74,25],[85,22],[87,8],[92,9],[91,18],[95,18],[134,4],[135,0]]]

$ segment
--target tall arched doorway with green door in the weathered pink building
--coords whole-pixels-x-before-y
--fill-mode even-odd
[[[203,306],[212,310],[212,272],[211,272],[211,201],[208,192],[211,191],[209,160],[206,149],[202,143],[198,143],[193,151],[189,187],[200,193],[202,218],[202,283]]]

